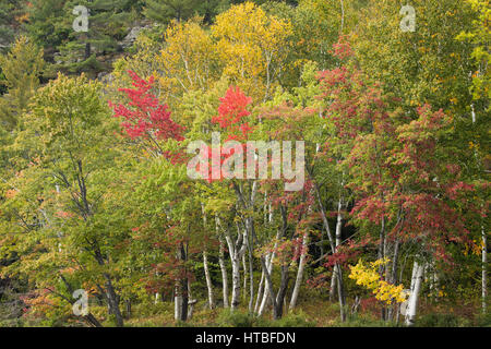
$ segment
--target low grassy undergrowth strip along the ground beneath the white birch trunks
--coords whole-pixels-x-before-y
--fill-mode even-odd
[[[348,304],[352,302],[348,301]],[[152,308],[136,308],[130,320],[129,327],[192,326],[192,327],[394,327],[404,326],[404,316],[399,322],[381,321],[381,306],[375,301],[362,302],[357,314],[349,314],[345,323],[339,321],[339,306],[328,300],[300,300],[295,312],[284,315],[279,321],[273,321],[271,312],[254,317],[248,315],[247,309],[239,309],[233,314],[217,308],[205,309],[203,302],[194,308],[194,314],[187,323],[173,321],[173,303],[160,302]],[[491,317],[483,317],[479,312],[479,303],[460,303],[442,301],[440,303],[423,301],[420,304],[417,326],[424,327],[468,327],[491,326]]]

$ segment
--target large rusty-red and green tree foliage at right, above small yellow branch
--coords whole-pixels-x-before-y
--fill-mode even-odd
[[[344,41],[334,50],[349,56]],[[357,195],[352,217],[374,225],[384,220],[387,238],[424,241],[435,257],[450,262],[445,245],[469,241],[462,207],[477,210],[468,202],[472,185],[460,179],[460,167],[442,144],[452,119],[424,105],[410,120],[395,98],[351,67],[320,72],[318,79],[319,98],[327,106],[323,116],[334,133],[324,154],[354,174],[347,185]]]

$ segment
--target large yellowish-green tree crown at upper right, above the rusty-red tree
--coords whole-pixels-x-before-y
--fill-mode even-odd
[[[403,32],[400,7],[372,3],[362,12],[355,48],[363,71],[395,92],[405,106],[429,103],[463,112],[470,105],[471,48],[455,38],[471,27],[472,12],[459,0],[412,1],[416,31]],[[467,109],[468,110],[468,109]]]

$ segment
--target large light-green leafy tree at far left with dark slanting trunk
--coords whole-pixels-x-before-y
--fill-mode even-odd
[[[108,219],[100,202],[100,190],[108,184],[104,169],[115,155],[105,141],[113,129],[111,122],[103,121],[107,107],[99,88],[85,76],[60,75],[38,91],[26,118],[31,128],[16,140],[31,140],[31,156],[36,160],[8,182],[7,188],[15,188],[19,195],[2,207],[7,217],[24,217],[24,229],[29,232],[5,231],[3,239],[14,239],[15,250],[25,257],[3,272],[28,275],[33,294],[53,305],[43,310],[41,302],[33,312],[49,311],[51,325],[68,316],[71,289],[104,290],[99,288],[103,278],[107,282],[105,275],[115,273],[111,267],[121,232],[105,232]],[[40,178],[48,180],[41,184]],[[109,255],[112,263],[105,262]]]

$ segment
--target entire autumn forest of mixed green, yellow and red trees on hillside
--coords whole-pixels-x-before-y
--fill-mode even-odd
[[[489,326],[490,16],[2,0],[0,326]],[[189,178],[213,132],[304,141],[302,190]]]

